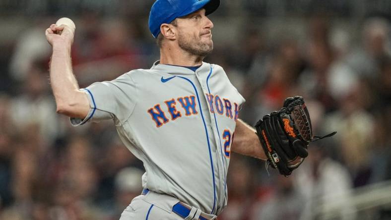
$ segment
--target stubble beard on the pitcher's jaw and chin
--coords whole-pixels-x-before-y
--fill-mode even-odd
[[[200,39],[186,38],[182,34],[179,35],[178,45],[182,50],[188,52],[189,54],[202,57],[209,55],[213,51],[212,41],[210,41],[210,43],[204,43],[201,42]]]

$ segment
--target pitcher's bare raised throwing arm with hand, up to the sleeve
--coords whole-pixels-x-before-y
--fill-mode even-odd
[[[61,34],[58,34],[62,32]],[[72,72],[70,48],[74,31],[55,24],[46,29],[46,39],[52,45],[53,54],[50,63],[50,81],[56,99],[57,112],[70,117],[84,118],[89,110],[89,102]]]

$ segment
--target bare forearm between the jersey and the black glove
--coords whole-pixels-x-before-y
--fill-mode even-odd
[[[235,153],[266,160],[256,130],[240,119],[236,122],[235,138],[231,148]]]

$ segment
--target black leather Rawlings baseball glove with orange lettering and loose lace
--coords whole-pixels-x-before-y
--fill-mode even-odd
[[[308,145],[325,137],[313,136],[311,119],[300,96],[287,98],[284,107],[263,116],[255,125],[266,160],[280,174],[288,176],[308,156]]]

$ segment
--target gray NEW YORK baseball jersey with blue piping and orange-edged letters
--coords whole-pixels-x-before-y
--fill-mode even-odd
[[[245,102],[222,67],[203,62],[194,72],[156,62],[83,90],[91,110],[72,124],[114,119],[124,144],[144,163],[144,188],[205,213],[222,212],[230,147]]]

